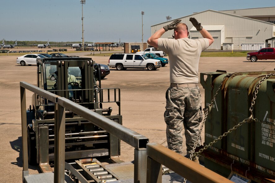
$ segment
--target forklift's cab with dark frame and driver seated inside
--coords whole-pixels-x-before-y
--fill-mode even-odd
[[[101,88],[96,84],[97,69],[91,58],[40,58],[37,60],[37,86],[61,97],[68,98],[80,105],[95,109],[98,106],[98,93]],[[100,68],[100,67],[99,67]],[[38,96],[37,104],[42,111],[54,111],[53,102]],[[44,108],[44,109],[43,109]]]

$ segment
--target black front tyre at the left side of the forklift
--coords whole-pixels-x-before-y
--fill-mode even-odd
[[[28,128],[28,163],[30,165],[37,165],[36,162],[36,142],[35,142],[35,133],[32,129]]]

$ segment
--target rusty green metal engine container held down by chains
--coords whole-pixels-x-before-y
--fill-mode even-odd
[[[229,76],[222,71],[201,73],[205,108],[209,109],[205,123],[206,145],[251,116],[250,107],[256,86],[268,73],[275,74],[275,71],[238,72]],[[241,167],[256,171],[256,174],[250,175],[256,182],[262,182],[265,176],[275,179],[275,125],[270,124],[275,122],[274,88],[275,76],[270,76],[259,87],[251,117],[261,122],[242,124],[202,153],[208,158],[205,161],[207,168],[226,176],[232,171],[235,161],[235,165],[239,163]],[[215,94],[212,107],[208,107]],[[235,171],[245,176],[247,173],[242,168]]]

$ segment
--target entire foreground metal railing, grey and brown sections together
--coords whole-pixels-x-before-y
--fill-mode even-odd
[[[134,183],[161,183],[162,166],[170,168],[187,180],[206,183],[229,183],[228,179],[204,168],[203,166],[184,158],[172,150],[156,143],[148,143],[149,139],[132,131],[121,124],[78,105],[77,103],[52,94],[26,82],[20,82],[21,121],[22,121],[22,149],[23,149],[23,181],[29,176],[28,144],[27,144],[27,116],[26,116],[26,89],[47,98],[55,103],[55,159],[54,182],[64,182],[65,169],[65,108],[80,115],[108,133],[118,137],[127,144],[135,147],[134,150]],[[146,176],[147,175],[147,176]]]

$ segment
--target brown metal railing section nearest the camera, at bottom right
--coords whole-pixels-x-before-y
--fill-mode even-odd
[[[232,183],[227,178],[157,143],[147,144],[147,183],[162,182],[162,166],[193,183]],[[203,181],[202,181],[203,180]]]

